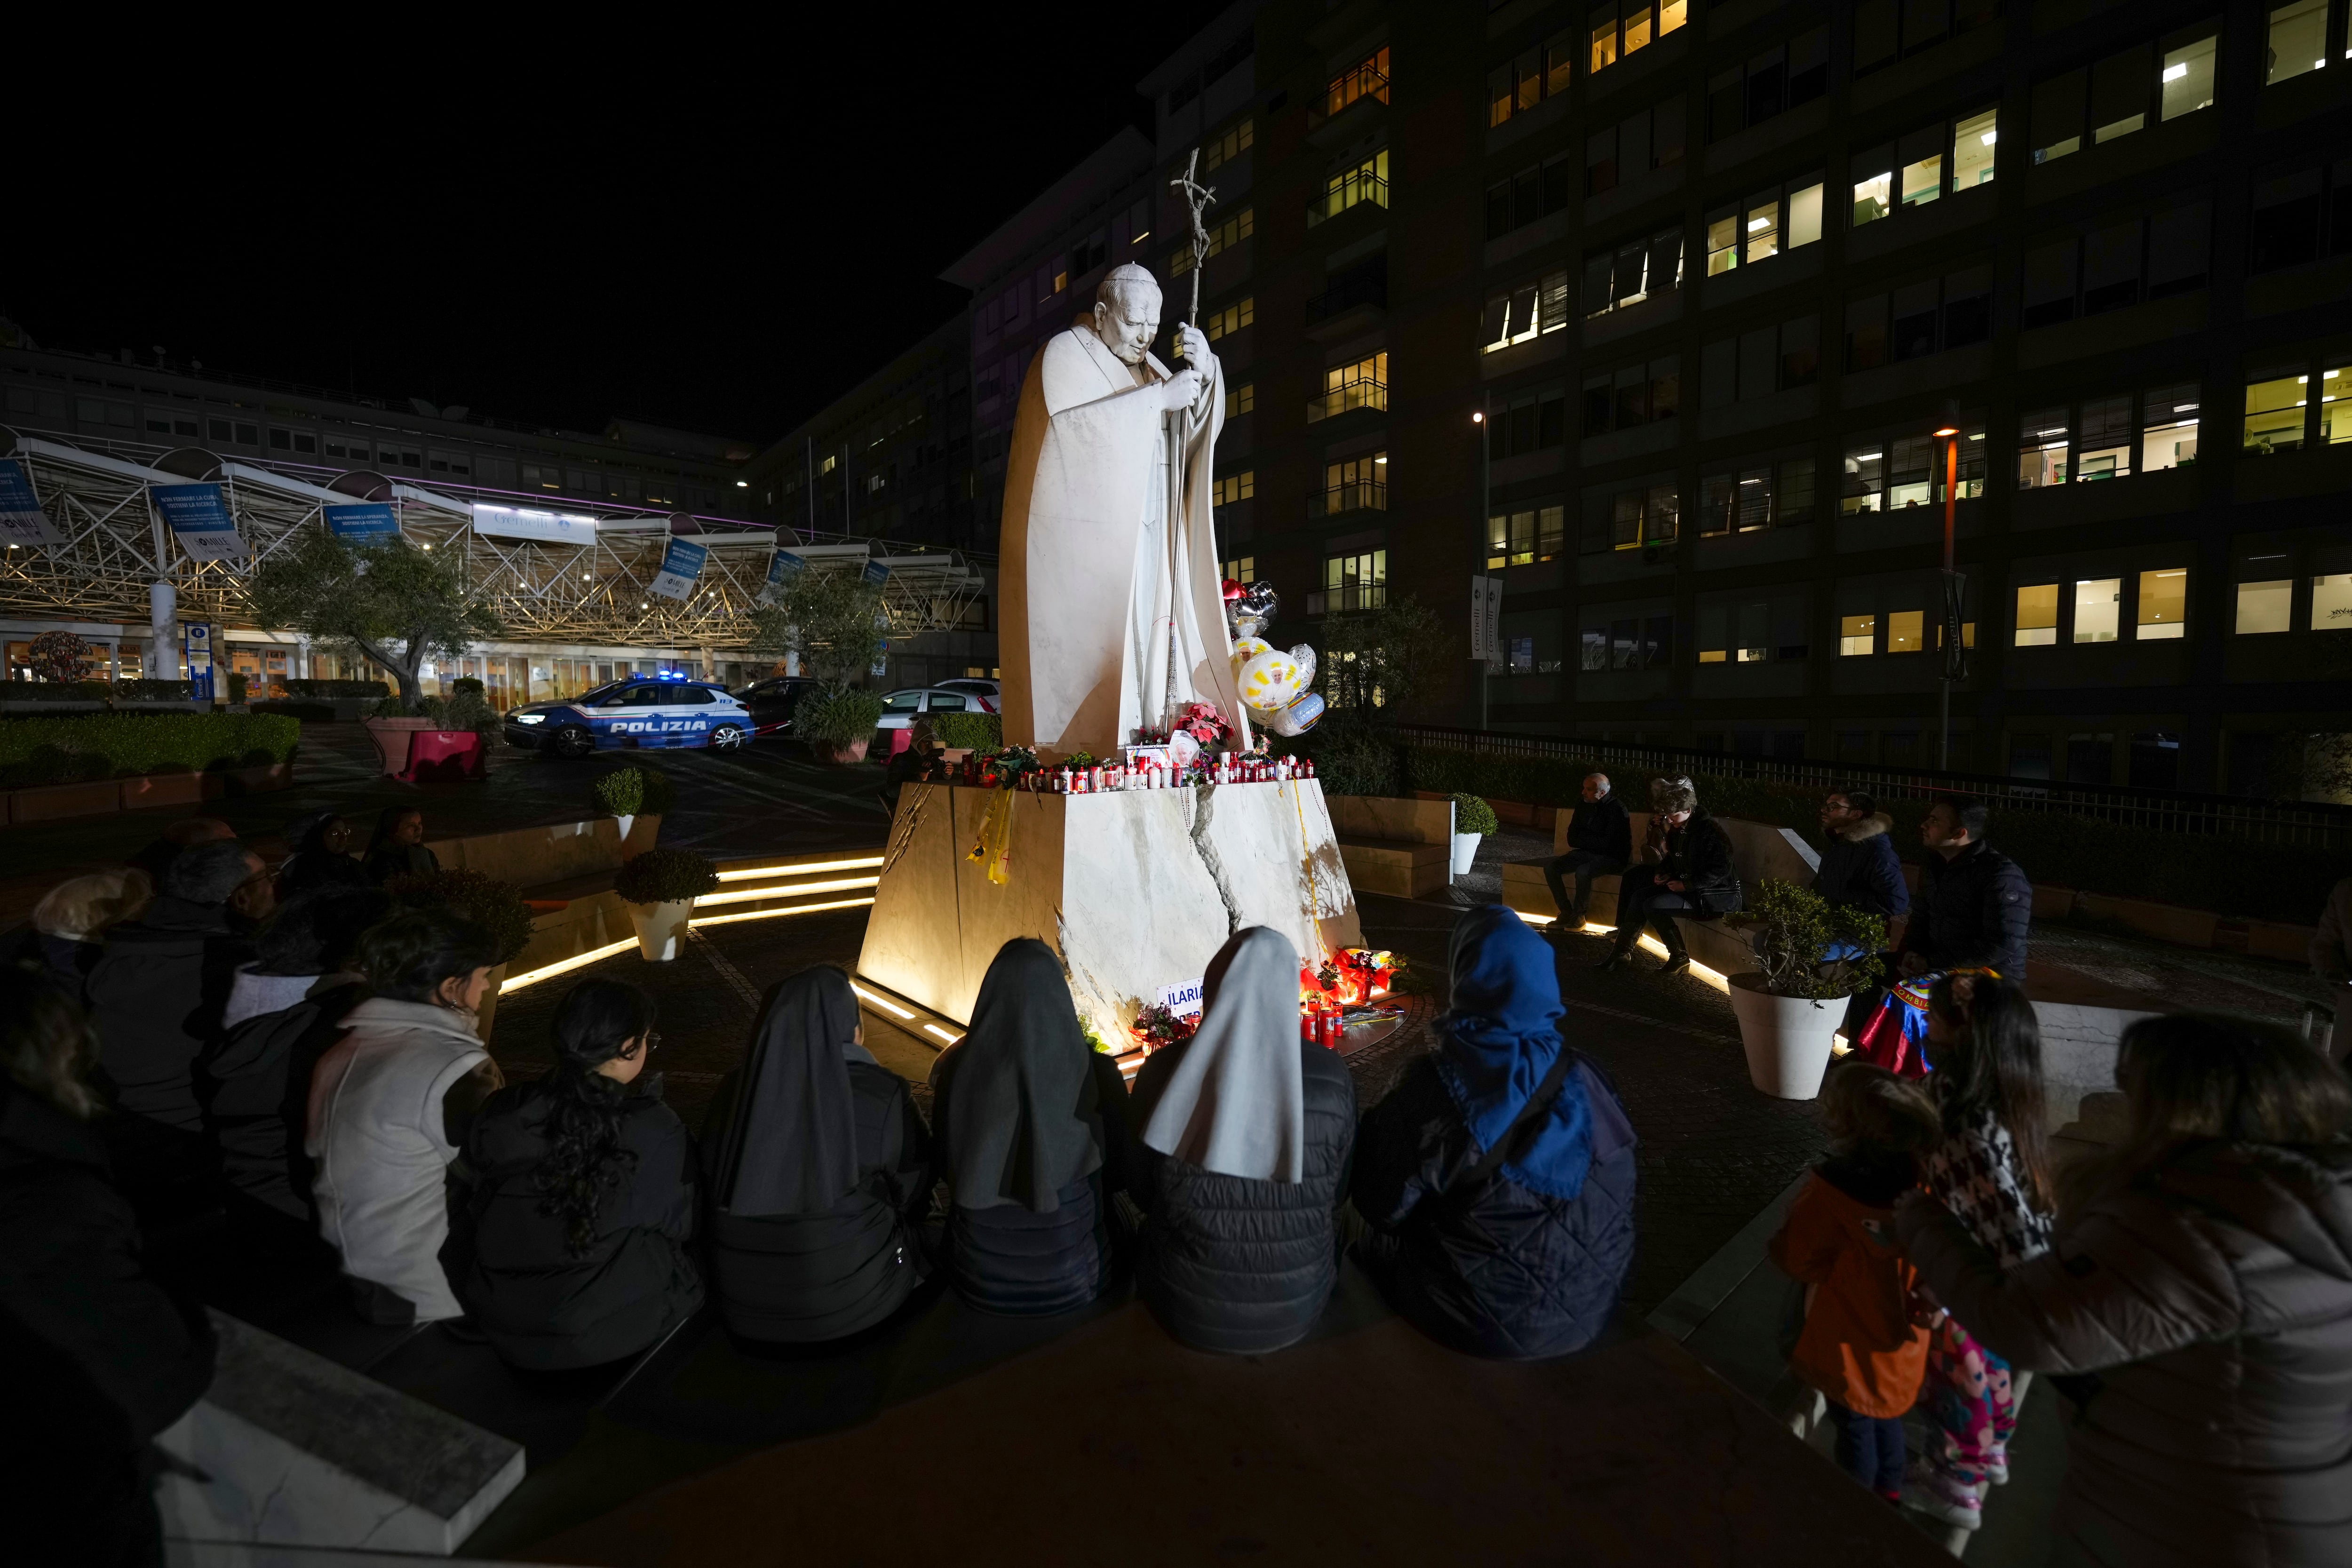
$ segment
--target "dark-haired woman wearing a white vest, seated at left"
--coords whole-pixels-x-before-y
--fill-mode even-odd
[[[463,1316],[440,1265],[442,1178],[503,1079],[475,1034],[499,947],[445,910],[395,914],[360,938],[369,999],[310,1074],[318,1222],[376,1324]]]

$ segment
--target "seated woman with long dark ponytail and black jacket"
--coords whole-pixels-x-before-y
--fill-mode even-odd
[[[652,997],[583,980],[555,1006],[555,1072],[473,1119],[449,1274],[508,1366],[604,1366],[703,1305],[694,1140],[640,1077],[659,1044]]]

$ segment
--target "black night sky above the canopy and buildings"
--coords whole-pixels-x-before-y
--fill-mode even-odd
[[[746,38],[677,12],[588,49],[597,12],[572,12],[536,52],[452,14],[428,47],[275,66],[172,73],[151,45],[106,87],[64,61],[26,87],[24,61],[0,315],[45,348],[767,442],[948,320],[941,268],[1148,129],[1134,82],[1218,9],[870,5],[823,38],[816,7]]]

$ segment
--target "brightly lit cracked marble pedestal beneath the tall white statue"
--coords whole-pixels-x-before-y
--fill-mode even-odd
[[[1049,943],[1077,1011],[1124,1039],[1160,987],[1200,980],[1225,938],[1272,926],[1301,959],[1364,929],[1315,780],[1209,790],[1011,795],[1009,882],[971,858],[997,790],[910,785],[875,889],[858,973],[969,1020],[1016,936]]]

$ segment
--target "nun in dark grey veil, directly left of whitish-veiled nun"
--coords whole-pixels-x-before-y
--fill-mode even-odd
[[[1033,936],[997,952],[971,1032],[931,1067],[948,1173],[946,1260],[981,1312],[1047,1314],[1112,1276],[1110,1194],[1127,1171],[1127,1084],[1087,1046],[1061,959]]]

